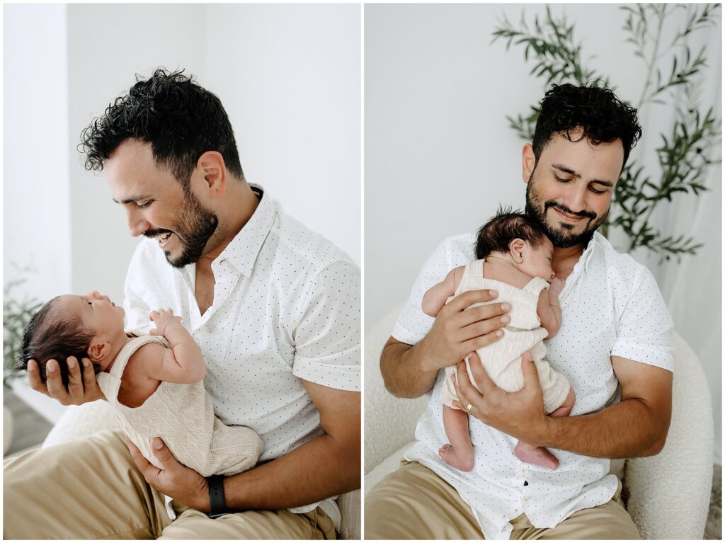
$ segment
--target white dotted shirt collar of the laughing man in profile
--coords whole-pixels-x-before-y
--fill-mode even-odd
[[[252,275],[254,261],[257,260],[262,244],[267,239],[277,217],[276,202],[264,194],[262,187],[251,183],[249,186],[260,199],[260,203],[257,204],[257,209],[252,213],[252,217],[249,217],[247,224],[241,228],[214,261],[217,263],[226,260],[246,277]]]

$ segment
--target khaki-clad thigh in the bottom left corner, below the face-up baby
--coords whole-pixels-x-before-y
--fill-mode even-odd
[[[153,539],[169,523],[120,431],[4,463],[4,539]]]

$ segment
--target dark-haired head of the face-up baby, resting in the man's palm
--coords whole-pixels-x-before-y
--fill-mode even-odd
[[[64,294],[41,307],[25,327],[20,343],[17,368],[28,369],[36,360],[41,380],[45,366],[56,360],[63,384],[68,384],[67,357],[88,358],[98,373],[107,368],[125,344],[123,307],[116,307],[107,296],[94,291],[86,296]]]

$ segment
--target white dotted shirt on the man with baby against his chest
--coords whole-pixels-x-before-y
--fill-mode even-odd
[[[451,237],[428,258],[393,330],[396,339],[412,345],[428,333],[434,319],[421,310],[423,294],[452,268],[475,260],[475,242],[473,233]],[[571,415],[592,413],[619,400],[613,355],[673,369],[673,323],[653,275],[629,255],[617,253],[600,233],[566,279],[560,304],[561,328],[544,344],[550,365],[576,392]],[[610,460],[550,449],[560,461],[556,471],[522,463],[513,454],[516,439],[475,418],[470,424],[475,467],[470,473],[450,468],[437,455],[448,442],[439,399],[443,378],[441,371],[418,421],[419,441],[405,457],[423,463],[457,489],[486,539],[509,539],[509,521],[521,513],[537,528],[551,528],[613,497],[617,479],[608,475]]]

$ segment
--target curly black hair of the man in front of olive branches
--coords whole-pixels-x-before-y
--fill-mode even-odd
[[[581,135],[576,133],[578,128],[583,130]],[[544,95],[531,142],[537,162],[544,147],[558,133],[566,135],[569,141],[587,138],[593,145],[621,140],[624,169],[629,152],[642,136],[642,128],[637,120],[637,109],[623,103],[608,88],[600,87],[598,81],[593,81],[582,86],[552,85]]]

